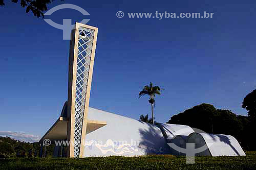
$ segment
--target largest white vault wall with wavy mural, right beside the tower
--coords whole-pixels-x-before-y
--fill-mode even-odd
[[[89,108],[88,119],[106,121],[107,125],[86,135],[84,157],[170,153],[156,126],[94,108]]]

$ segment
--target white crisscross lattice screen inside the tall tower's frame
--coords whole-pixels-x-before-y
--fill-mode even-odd
[[[94,30],[79,27],[75,89],[74,157],[79,157]]]

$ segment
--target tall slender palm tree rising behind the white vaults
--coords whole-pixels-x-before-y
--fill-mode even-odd
[[[147,94],[148,96],[150,96],[150,100],[148,100],[148,102],[151,104],[151,113],[152,113],[152,122],[154,125],[154,113],[153,113],[153,106],[155,106],[155,99],[156,98],[156,94],[161,94],[160,90],[163,90],[163,88],[160,88],[159,86],[153,86],[153,83],[150,82],[150,86],[144,86],[144,88],[140,91],[139,93],[139,98],[145,94]]]

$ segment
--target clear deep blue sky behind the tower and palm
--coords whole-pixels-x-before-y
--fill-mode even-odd
[[[255,1],[54,1],[80,6],[99,28],[90,106],[139,118],[150,114],[140,88],[152,81],[165,90],[156,120],[201,103],[246,115],[244,96],[256,87]],[[113,4],[111,4],[113,3]],[[225,3],[225,4],[224,4]],[[116,12],[126,15],[117,18]],[[213,18],[128,18],[127,12],[214,12]],[[43,135],[67,100],[69,41],[62,30],[26,14],[0,8],[0,130]],[[80,21],[63,9],[47,18]]]

